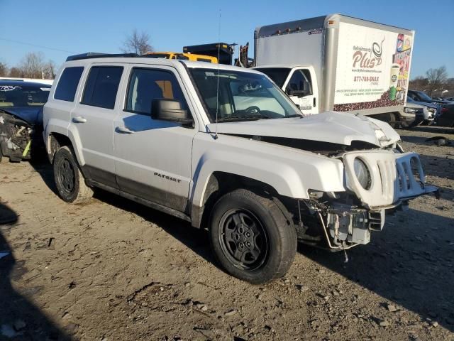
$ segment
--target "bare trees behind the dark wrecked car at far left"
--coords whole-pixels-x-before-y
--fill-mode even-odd
[[[53,60],[45,60],[41,52],[29,52],[21,59],[18,65],[9,67],[0,62],[0,77],[40,78],[53,80],[56,72]]]

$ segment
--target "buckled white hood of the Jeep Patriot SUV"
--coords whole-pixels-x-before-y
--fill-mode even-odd
[[[216,124],[208,125],[216,131]],[[303,118],[260,119],[218,123],[219,134],[272,136],[289,139],[321,141],[350,146],[363,141],[375,146],[388,146],[400,136],[384,121],[345,112],[323,112]]]

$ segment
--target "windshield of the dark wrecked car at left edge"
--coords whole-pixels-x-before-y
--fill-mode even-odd
[[[0,85],[0,107],[43,107],[50,87]]]

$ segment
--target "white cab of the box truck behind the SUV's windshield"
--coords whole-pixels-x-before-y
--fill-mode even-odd
[[[270,77],[303,114],[319,114],[319,85],[313,66],[265,65],[254,69]]]

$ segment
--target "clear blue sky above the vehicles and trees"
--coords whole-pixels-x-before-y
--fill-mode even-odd
[[[242,45],[253,44],[256,26],[327,13],[410,28],[416,31],[411,77],[441,65],[454,77],[454,0],[0,0],[0,61],[11,67],[27,52],[41,51],[60,65],[72,53],[118,53],[133,28],[149,33],[155,50],[181,51],[218,40],[219,9],[221,40]]]

